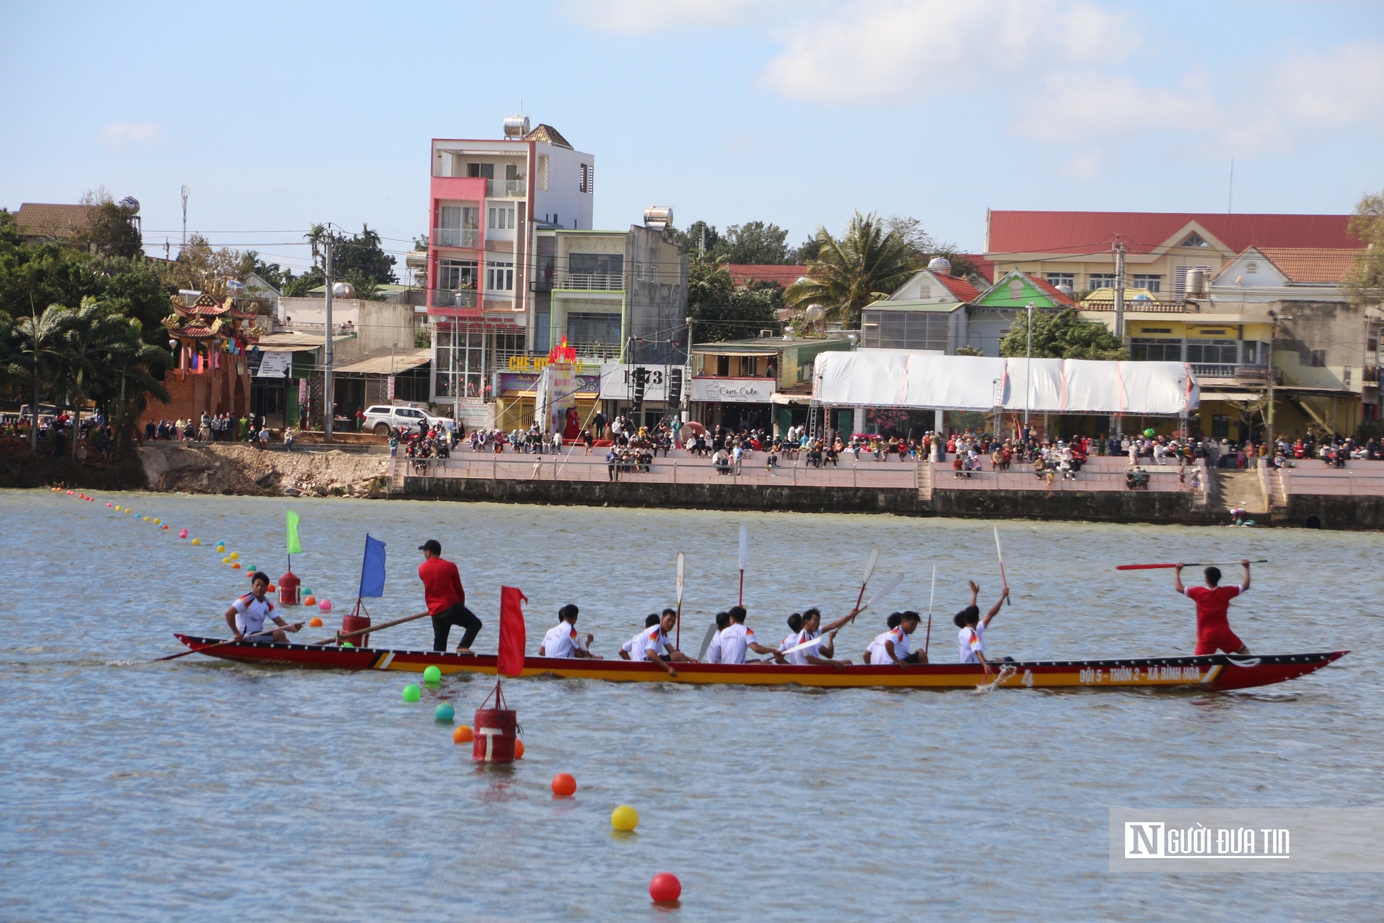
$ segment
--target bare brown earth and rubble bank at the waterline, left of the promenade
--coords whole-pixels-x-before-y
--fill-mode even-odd
[[[252,497],[382,497],[386,455],[260,451],[235,443],[140,448],[149,490]]]

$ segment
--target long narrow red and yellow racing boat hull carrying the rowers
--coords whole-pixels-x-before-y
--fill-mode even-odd
[[[338,648],[334,645],[278,643],[273,641],[224,642],[220,638],[174,635],[191,650],[239,663],[281,664],[324,670],[397,670],[422,673],[495,674],[494,655],[459,655],[435,650]],[[1284,682],[1320,670],[1348,650],[1297,655],[1208,655],[1201,657],[1127,657],[1118,660],[1006,660],[981,664],[930,663],[908,667],[868,664],[850,667],[779,666],[774,663],[680,663],[677,678],[652,663],[631,660],[574,660],[525,657],[523,677],[606,679],[610,682],[738,684],[747,686],[818,686],[901,689],[976,689],[990,684],[1030,689],[1248,689]]]

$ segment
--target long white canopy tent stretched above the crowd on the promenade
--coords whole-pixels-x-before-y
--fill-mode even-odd
[[[1027,369],[1032,368],[1032,381]],[[832,407],[1172,417],[1196,410],[1201,389],[1186,363],[990,358],[919,353],[822,353],[812,400]]]

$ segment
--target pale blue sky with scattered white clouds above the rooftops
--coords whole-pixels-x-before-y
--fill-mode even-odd
[[[407,249],[428,140],[597,155],[597,226],[853,209],[963,249],[994,209],[1348,212],[1384,187],[1384,4],[1067,0],[4,4],[0,206],[104,184],[147,244]],[[158,248],[162,252],[162,246]],[[400,260],[401,264],[401,260]]]

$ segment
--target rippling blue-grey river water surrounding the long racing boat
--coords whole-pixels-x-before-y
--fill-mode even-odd
[[[983,605],[999,587],[990,522],[292,504],[293,570],[338,610],[365,531],[389,544],[376,621],[421,610],[414,549],[439,538],[487,621],[482,650],[508,584],[530,599],[530,652],[574,601],[610,656],[671,602],[678,551],[685,634],[699,639],[735,601],[742,522],[761,639],[808,605],[847,610],[871,548],[877,585],[907,574],[890,609],[925,610],[937,566],[934,659],[955,656],[948,613],[965,580]],[[1246,642],[1355,650],[1289,684],[977,696],[516,679],[505,689],[527,754],[487,771],[432,720],[444,697],[469,724],[483,679],[404,704],[414,677],[397,673],[151,663],[179,649],[173,631],[223,634],[245,577],[209,540],[282,573],[286,505],[0,493],[0,919],[1378,919],[1377,876],[1107,872],[1111,807],[1384,805],[1374,534],[999,523],[1014,605],[987,634],[991,653],[1190,653],[1193,614],[1168,572],[1113,566],[1268,558],[1232,609]],[[208,544],[177,541],[184,526]],[[848,628],[841,656],[883,614]],[[426,648],[430,628],[375,643]],[[574,798],[552,798],[556,772],[576,776]],[[610,830],[621,803],[639,811],[632,836]],[[660,870],[682,880],[678,909],[649,902]]]

